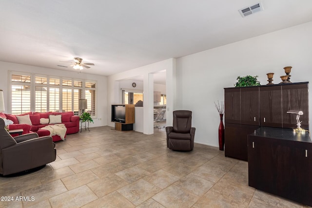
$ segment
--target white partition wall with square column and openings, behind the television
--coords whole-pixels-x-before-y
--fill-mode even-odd
[[[159,61],[153,64],[142,66],[127,72],[118,73],[108,77],[108,125],[114,127],[115,124],[111,122],[111,105],[114,103],[120,103],[121,91],[118,81],[128,79],[136,76],[143,76],[143,133],[151,134],[154,133],[154,80],[153,74],[159,71],[166,70],[166,94],[167,94],[167,124],[172,123],[171,110],[174,108],[176,99],[176,87],[175,87],[175,58]],[[138,88],[137,88],[138,89]],[[170,111],[170,112],[169,112]]]

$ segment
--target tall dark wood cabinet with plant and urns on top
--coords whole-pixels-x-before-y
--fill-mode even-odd
[[[259,127],[309,129],[309,82],[224,88],[225,156],[248,160],[248,134]]]

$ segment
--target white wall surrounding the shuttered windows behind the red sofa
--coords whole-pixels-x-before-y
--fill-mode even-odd
[[[22,64],[15,64],[9,62],[0,61],[0,89],[3,90],[4,94],[4,105],[7,110],[8,106],[8,90],[9,86],[9,71],[17,71],[17,72],[27,72],[39,75],[52,75],[52,76],[62,76],[69,78],[79,78],[79,79],[90,79],[97,81],[97,118],[94,118],[94,123],[90,124],[90,127],[97,126],[107,126],[107,77],[106,76],[98,76],[98,75],[90,75],[85,73],[77,73],[49,68],[42,68],[37,66],[29,66]],[[6,113],[8,113],[6,111]]]

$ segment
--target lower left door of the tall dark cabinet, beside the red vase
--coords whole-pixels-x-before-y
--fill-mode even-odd
[[[226,157],[234,157],[240,159],[240,124],[225,124],[224,146],[224,154]]]

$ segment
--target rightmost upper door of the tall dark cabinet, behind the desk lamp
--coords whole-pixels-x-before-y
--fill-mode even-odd
[[[301,128],[309,129],[308,84],[282,85],[282,116],[283,128],[297,127],[296,115],[287,111],[302,111],[300,115]]]

